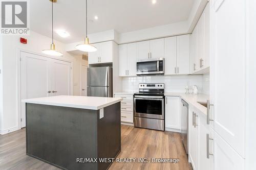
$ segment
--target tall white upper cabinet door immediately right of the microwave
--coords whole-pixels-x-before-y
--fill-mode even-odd
[[[176,74],[176,36],[164,38],[164,74]]]

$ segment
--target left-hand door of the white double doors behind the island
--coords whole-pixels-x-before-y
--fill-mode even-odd
[[[49,96],[50,61],[47,57],[20,52],[20,99]],[[20,103],[20,127],[26,126],[25,103]]]

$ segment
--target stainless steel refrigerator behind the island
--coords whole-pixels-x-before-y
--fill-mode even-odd
[[[89,67],[87,69],[87,95],[97,97],[113,96],[112,67]]]

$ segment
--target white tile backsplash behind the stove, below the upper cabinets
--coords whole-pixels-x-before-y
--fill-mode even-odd
[[[139,83],[164,83],[166,92],[185,92],[186,85],[191,89],[197,85],[199,93],[203,91],[201,75],[123,77],[122,90],[138,91]]]

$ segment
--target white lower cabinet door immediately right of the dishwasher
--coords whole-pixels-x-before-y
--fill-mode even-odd
[[[193,166],[193,169],[197,170],[198,169],[198,160],[199,160],[199,157],[198,157],[198,146],[199,146],[199,139],[198,139],[198,133],[199,133],[199,117],[198,116],[193,116],[193,112],[195,114],[198,115],[197,112],[195,112],[193,109],[190,109],[189,108],[189,113],[188,113],[188,125],[189,125],[189,128],[188,128],[188,133],[189,133],[189,145],[188,145],[188,155],[190,157],[190,160],[191,160],[191,164]],[[196,126],[193,125],[193,122],[196,123]]]

